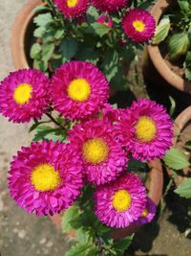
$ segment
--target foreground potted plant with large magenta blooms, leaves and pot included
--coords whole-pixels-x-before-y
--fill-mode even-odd
[[[159,159],[171,146],[173,123],[148,99],[126,109],[109,105],[109,88],[96,65],[76,60],[52,80],[21,69],[1,81],[1,114],[14,123],[33,119],[35,131],[12,158],[11,198],[38,216],[64,212],[63,229],[76,230],[66,255],[122,254],[133,238],[124,237],[152,221],[161,197]]]

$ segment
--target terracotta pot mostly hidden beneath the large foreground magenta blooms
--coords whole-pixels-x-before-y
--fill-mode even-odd
[[[156,205],[159,205],[160,198],[162,196],[163,187],[163,171],[159,159],[151,161],[149,163],[150,173],[146,180],[145,186],[148,189],[148,196],[153,200]],[[53,223],[58,229],[61,229],[61,215],[55,215],[51,217]],[[115,240],[129,236],[139,229],[138,224],[131,224],[127,228],[118,228],[111,233],[111,237]],[[75,233],[69,234],[70,237],[75,237]]]

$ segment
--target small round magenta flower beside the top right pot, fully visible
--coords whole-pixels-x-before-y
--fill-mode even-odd
[[[127,12],[123,19],[123,30],[134,42],[143,43],[152,39],[156,30],[156,21],[147,11],[133,9]]]

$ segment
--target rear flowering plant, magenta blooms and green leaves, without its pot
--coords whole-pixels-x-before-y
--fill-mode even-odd
[[[52,74],[67,61],[91,61],[113,87],[127,86],[129,64],[155,33],[155,20],[145,11],[153,1],[43,2],[33,18],[33,68]]]

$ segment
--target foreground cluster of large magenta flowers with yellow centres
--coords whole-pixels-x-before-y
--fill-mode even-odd
[[[19,70],[1,83],[0,112],[13,122],[38,119],[49,109],[74,122],[67,143],[33,142],[11,162],[11,197],[29,213],[54,215],[96,186],[97,218],[111,227],[151,221],[156,206],[140,178],[127,172],[130,157],[150,161],[171,146],[172,122],[165,109],[138,100],[126,109],[107,103],[109,83],[95,65],[63,64],[51,81],[37,70]]]

